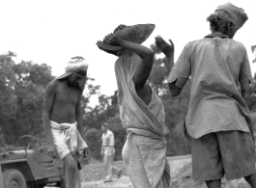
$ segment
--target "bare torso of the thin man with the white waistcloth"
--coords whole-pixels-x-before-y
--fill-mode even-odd
[[[58,123],[73,123],[80,90],[68,86],[65,81],[54,80],[54,82],[56,82],[56,92],[49,118]]]

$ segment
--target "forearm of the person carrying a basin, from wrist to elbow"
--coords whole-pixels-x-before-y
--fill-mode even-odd
[[[146,46],[141,45],[141,44],[130,42],[128,40],[122,40],[122,39],[119,39],[117,44],[121,47],[124,47],[124,48],[134,52],[141,59],[154,57],[154,51]]]

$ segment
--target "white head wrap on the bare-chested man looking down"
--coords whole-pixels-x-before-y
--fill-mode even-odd
[[[71,58],[68,62],[67,66],[65,67],[65,73],[57,77],[56,79],[63,79],[67,78],[71,74],[78,72],[80,70],[87,70],[88,69],[88,62],[80,56],[76,56]]]

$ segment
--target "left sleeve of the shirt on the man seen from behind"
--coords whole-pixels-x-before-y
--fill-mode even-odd
[[[180,89],[183,89],[186,81],[188,80],[191,73],[191,57],[190,57],[190,42],[185,45],[182,54],[177,60],[176,64],[172,68],[167,81],[169,83],[174,83]]]

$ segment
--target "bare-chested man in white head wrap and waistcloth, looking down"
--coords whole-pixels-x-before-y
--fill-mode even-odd
[[[50,144],[48,152],[64,161],[69,188],[80,188],[78,157],[85,154],[81,95],[87,78],[88,64],[82,57],[74,57],[66,72],[52,80],[45,92],[43,126]]]

